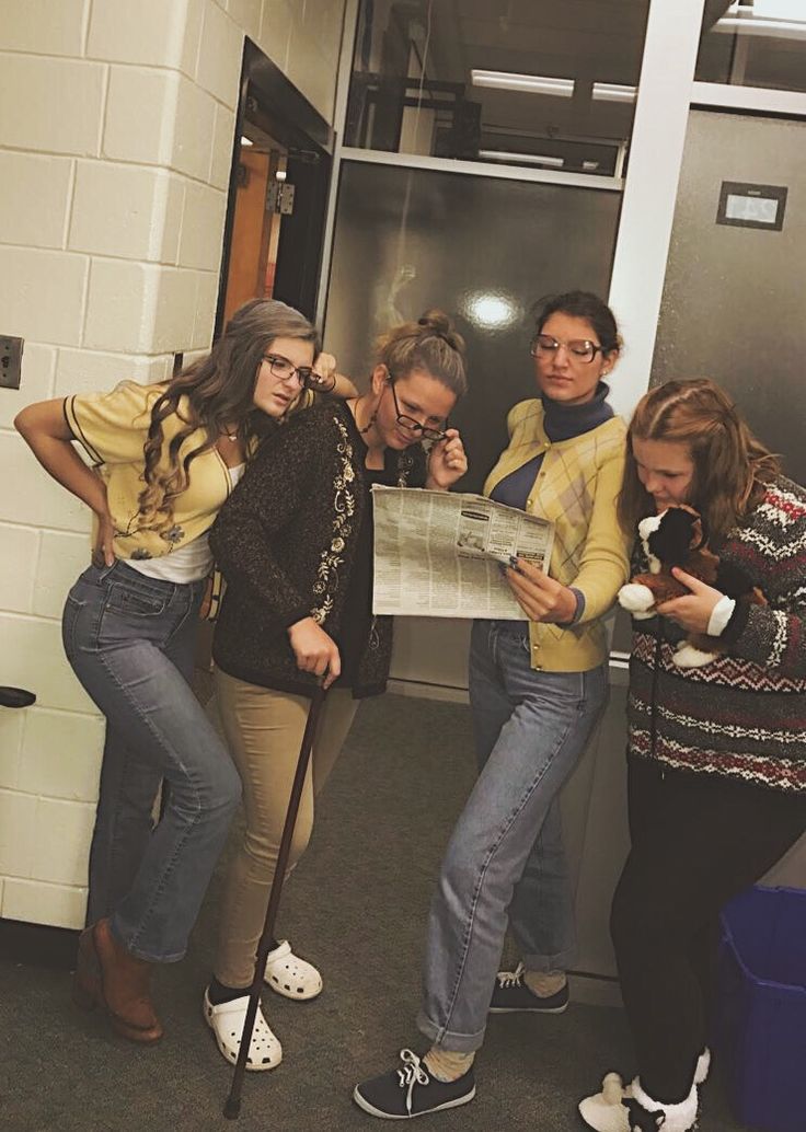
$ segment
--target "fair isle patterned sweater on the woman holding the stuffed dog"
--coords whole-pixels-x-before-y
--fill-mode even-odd
[[[703,668],[674,663],[670,621],[633,623],[628,754],[806,792],[806,490],[777,479],[714,549],[769,606],[738,602],[728,652]]]

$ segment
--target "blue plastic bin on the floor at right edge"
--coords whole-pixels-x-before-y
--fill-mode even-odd
[[[738,1118],[806,1132],[806,891],[743,892],[722,912],[717,1043]]]

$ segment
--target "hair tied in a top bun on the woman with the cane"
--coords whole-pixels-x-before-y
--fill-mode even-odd
[[[415,323],[401,323],[375,343],[378,361],[394,380],[421,369],[456,397],[468,392],[464,338],[444,310],[427,310]]]

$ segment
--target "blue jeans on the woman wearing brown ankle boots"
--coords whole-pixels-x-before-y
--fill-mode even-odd
[[[68,660],[106,717],[89,918],[110,916],[132,954],[185,954],[240,799],[230,755],[190,688],[204,582],[89,566],[62,618]],[[152,825],[160,782],[165,812]]]

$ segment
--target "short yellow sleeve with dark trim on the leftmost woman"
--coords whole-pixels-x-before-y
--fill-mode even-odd
[[[142,461],[151,411],[164,386],[121,381],[110,393],[74,394],[65,398],[65,418],[93,464]]]

